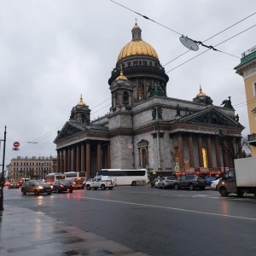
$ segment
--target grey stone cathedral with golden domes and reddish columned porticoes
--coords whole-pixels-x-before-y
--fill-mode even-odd
[[[191,101],[168,97],[165,68],[137,23],[131,36],[108,79],[110,112],[91,121],[81,96],[58,131],[58,172],[85,171],[93,177],[103,168],[175,172],[232,166],[226,143],[231,141],[229,150],[242,157],[244,127],[230,97],[214,106],[201,86]]]

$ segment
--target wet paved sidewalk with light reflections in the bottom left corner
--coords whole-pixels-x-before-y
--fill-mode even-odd
[[[102,236],[24,208],[0,211],[1,256],[145,256]]]

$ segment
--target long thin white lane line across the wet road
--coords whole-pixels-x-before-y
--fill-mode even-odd
[[[116,202],[116,203],[127,204],[127,205],[134,205],[134,206],[141,206],[141,207],[163,208],[163,209],[169,209],[169,210],[180,211],[180,212],[194,212],[194,213],[201,213],[201,214],[213,215],[213,216],[220,216],[220,217],[241,218],[241,219],[256,220],[256,218],[247,218],[247,217],[234,216],[234,215],[227,215],[227,214],[220,214],[220,213],[212,213],[212,212],[200,212],[200,211],[186,210],[186,209],[175,208],[175,207],[160,207],[160,206],[153,206],[153,205],[138,204],[138,203],[133,203],[133,202],[128,202],[128,201],[114,201],[114,200],[99,199],[99,198],[93,198],[93,197],[81,197],[81,198],[85,198],[85,199],[89,199],[89,200],[95,200],[95,201]]]

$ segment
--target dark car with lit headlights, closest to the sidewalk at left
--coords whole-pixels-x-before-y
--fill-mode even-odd
[[[22,195],[26,193],[33,193],[34,195],[47,194],[50,195],[52,192],[52,186],[48,183],[44,183],[41,180],[30,180],[23,183],[21,186]]]

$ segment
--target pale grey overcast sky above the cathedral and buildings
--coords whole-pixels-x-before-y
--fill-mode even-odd
[[[55,156],[57,131],[69,119],[80,94],[91,109],[91,120],[108,113],[108,79],[119,51],[131,41],[136,18],[143,40],[154,47],[166,68],[167,96],[190,101],[200,84],[214,105],[231,96],[247,136],[244,82],[234,67],[241,53],[256,45],[255,0],[115,2],[128,9],[109,0],[0,0],[0,138],[6,125],[5,164],[18,155]],[[219,44],[216,49],[230,55],[212,49],[199,55],[207,50],[200,46],[174,60],[187,51],[180,34],[203,42],[229,26],[204,44]],[[20,151],[12,150],[15,141]]]

